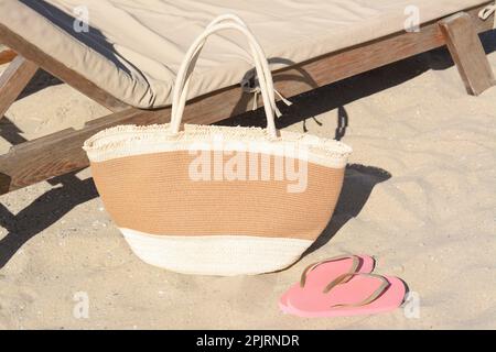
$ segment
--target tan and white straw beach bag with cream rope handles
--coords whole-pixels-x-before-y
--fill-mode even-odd
[[[235,30],[249,43],[267,129],[184,125],[191,72],[207,37]],[[351,148],[278,131],[267,58],[237,16],[214,20],[177,73],[170,124],[122,125],[85,142],[107,211],[144,262],[187,274],[285,268],[327,226]]]

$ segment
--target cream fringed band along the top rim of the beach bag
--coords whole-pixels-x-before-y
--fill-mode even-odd
[[[271,139],[261,128],[185,124],[177,134],[170,124],[118,125],[104,130],[83,148],[91,162],[172,152],[172,151],[247,151],[270,155],[308,160],[327,167],[346,166],[352,148],[344,143],[311,134],[281,131]]]

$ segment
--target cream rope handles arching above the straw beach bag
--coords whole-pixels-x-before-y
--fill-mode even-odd
[[[269,63],[267,62],[263,50],[255,38],[248,26],[236,15],[227,14],[216,18],[205,31],[193,42],[177,72],[176,82],[174,85],[172,97],[172,114],[171,114],[171,132],[179,133],[181,121],[186,105],[187,90],[191,74],[194,69],[196,59],[206,43],[209,35],[223,30],[237,30],[248,40],[251,55],[255,62],[257,76],[259,78],[260,90],[263,98],[263,106],[267,117],[267,129],[271,138],[277,139],[279,133],[274,122],[276,99],[273,98],[273,81],[270,73]]]

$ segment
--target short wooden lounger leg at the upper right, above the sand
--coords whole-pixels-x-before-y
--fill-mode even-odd
[[[478,96],[494,86],[493,69],[471,16],[456,13],[439,24],[468,94]]]

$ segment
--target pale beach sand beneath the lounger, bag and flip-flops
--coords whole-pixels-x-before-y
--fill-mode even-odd
[[[496,70],[496,33],[485,44]],[[342,136],[355,150],[335,216],[299,263],[254,277],[149,266],[86,169],[0,197],[0,328],[495,329],[496,87],[467,96],[440,50],[293,101],[285,129]],[[39,75],[0,122],[1,152],[106,113]],[[414,299],[371,317],[279,311],[278,298],[309,263],[346,253],[374,255],[376,271],[405,279]]]

